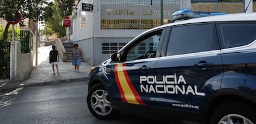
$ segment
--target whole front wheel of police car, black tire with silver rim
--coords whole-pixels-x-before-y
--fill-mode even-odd
[[[113,119],[119,114],[119,111],[111,106],[108,91],[101,84],[96,84],[89,89],[87,106],[93,116],[99,119]]]

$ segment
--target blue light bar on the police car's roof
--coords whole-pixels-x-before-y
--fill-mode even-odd
[[[176,10],[172,17],[172,21],[176,20],[187,20],[190,18],[198,18],[198,17],[208,17],[212,15],[224,15],[226,12],[200,12],[200,11],[192,11],[190,9],[181,9],[181,10]]]

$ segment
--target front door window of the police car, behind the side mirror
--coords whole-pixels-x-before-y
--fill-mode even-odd
[[[148,34],[147,37],[138,39],[138,43],[127,50],[126,61],[155,58],[161,34],[162,31],[156,31]]]

